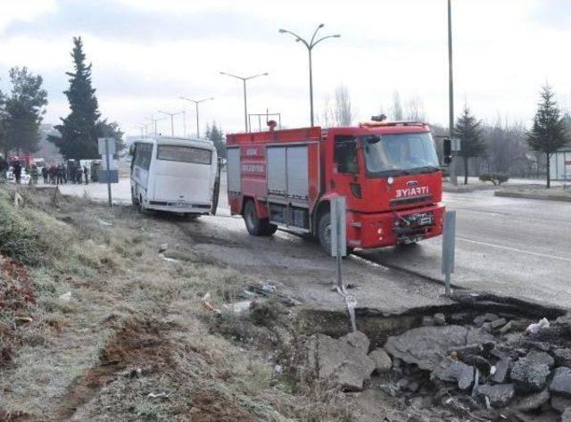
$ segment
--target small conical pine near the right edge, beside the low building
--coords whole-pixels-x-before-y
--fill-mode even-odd
[[[542,102],[537,104],[534,126],[527,132],[527,145],[547,159],[547,188],[551,187],[550,159],[559,148],[569,144],[569,129],[549,85],[542,87]]]

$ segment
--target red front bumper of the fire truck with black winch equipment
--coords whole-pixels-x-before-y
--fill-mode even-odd
[[[347,212],[347,245],[372,249],[412,244],[443,233],[443,205],[376,214]]]

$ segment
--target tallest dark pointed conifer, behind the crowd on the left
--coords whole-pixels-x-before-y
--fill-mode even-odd
[[[66,72],[70,77],[70,88],[64,91],[70,103],[70,114],[62,119],[62,124],[55,128],[61,137],[50,137],[60,148],[60,153],[67,159],[97,158],[97,120],[99,104],[95,97],[95,89],[91,85],[91,63],[86,64],[81,37],[73,37],[73,72]]]

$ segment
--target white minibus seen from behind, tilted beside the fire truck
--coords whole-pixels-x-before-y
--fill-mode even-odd
[[[220,166],[205,139],[141,138],[130,147],[131,200],[139,211],[215,214]]]

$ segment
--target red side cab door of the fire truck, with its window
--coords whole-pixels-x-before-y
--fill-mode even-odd
[[[359,185],[357,138],[336,135],[333,151],[333,183],[337,194],[345,196],[347,205],[355,199],[355,186]],[[359,193],[360,194],[360,193]]]

